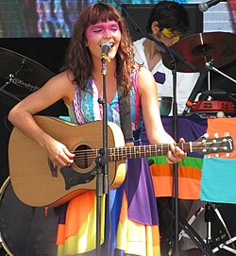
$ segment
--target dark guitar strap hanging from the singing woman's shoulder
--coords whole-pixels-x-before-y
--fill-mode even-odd
[[[123,131],[125,142],[132,143],[134,141],[131,114],[130,114],[130,94],[124,96],[124,89],[118,86],[119,94],[119,108],[120,108],[120,119],[121,119],[121,129]]]

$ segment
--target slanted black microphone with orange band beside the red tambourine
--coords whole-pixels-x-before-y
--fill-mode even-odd
[[[193,107],[194,105],[194,99],[196,97],[196,95],[201,91],[201,89],[203,88],[204,85],[204,81],[205,79],[208,77],[208,68],[205,66],[204,70],[202,71],[200,77],[198,77],[195,85],[194,85],[194,89],[192,90],[192,93],[190,94],[187,102],[186,102],[186,107],[182,113],[183,116],[186,115],[186,113],[191,109],[191,107]]]

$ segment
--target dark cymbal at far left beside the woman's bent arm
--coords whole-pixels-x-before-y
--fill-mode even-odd
[[[55,74],[35,60],[0,47],[0,96],[14,106]],[[1,99],[2,100],[2,99]]]

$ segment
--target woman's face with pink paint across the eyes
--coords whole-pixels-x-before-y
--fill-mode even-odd
[[[109,42],[111,49],[109,52],[110,60],[114,59],[121,42],[121,31],[119,25],[114,21],[97,23],[88,26],[86,29],[86,46],[89,47],[93,59],[101,58],[101,44]]]

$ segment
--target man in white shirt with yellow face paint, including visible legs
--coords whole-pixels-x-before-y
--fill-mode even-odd
[[[177,43],[181,36],[190,28],[189,14],[183,5],[177,2],[160,1],[151,10],[148,18],[146,32],[151,34],[160,43],[164,43],[167,47],[171,47]],[[146,69],[152,72],[158,87],[159,97],[173,98],[173,74],[170,69],[165,67],[162,62],[162,53],[160,46],[147,38],[142,38],[134,42],[135,60]],[[180,115],[186,106],[186,101],[194,89],[194,85],[200,74],[196,73],[180,73],[177,72],[177,113]],[[165,110],[163,110],[165,111]],[[172,115],[172,112],[170,112]],[[160,184],[163,185],[163,184]],[[170,244],[173,243],[173,230],[171,225],[173,221],[166,212],[165,208],[172,209],[173,200],[170,197],[158,198],[159,214],[160,214],[160,236],[161,239],[161,255],[167,255]],[[179,209],[182,216],[189,220],[201,206],[198,200],[180,200]],[[204,220],[198,218],[195,223],[196,230],[199,234],[204,235]],[[195,225],[194,223],[194,225]],[[204,236],[203,236],[204,237]],[[184,241],[184,242],[183,242]],[[182,238],[181,256],[185,255],[201,255],[194,242],[190,239]]]

